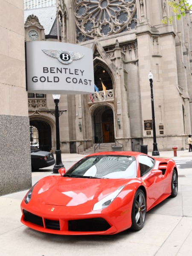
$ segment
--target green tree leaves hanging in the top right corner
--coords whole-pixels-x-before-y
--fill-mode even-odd
[[[187,0],[168,0],[167,3],[172,8],[172,12],[174,12],[175,15],[163,18],[161,20],[163,24],[172,24],[173,17],[176,16],[177,20],[180,20],[182,16],[185,16],[186,11],[192,10],[192,4],[189,5]]]

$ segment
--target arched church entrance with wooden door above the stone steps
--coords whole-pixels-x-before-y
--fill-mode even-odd
[[[93,113],[95,143],[114,142],[113,110],[109,106],[99,106]]]

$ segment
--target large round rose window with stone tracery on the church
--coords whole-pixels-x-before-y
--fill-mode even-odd
[[[133,31],[136,0],[76,0],[75,17],[77,42]]]

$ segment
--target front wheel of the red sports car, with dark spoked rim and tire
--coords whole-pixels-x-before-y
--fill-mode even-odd
[[[132,211],[131,211],[131,230],[141,230],[145,223],[146,215],[146,199],[143,190],[138,189],[134,196]]]

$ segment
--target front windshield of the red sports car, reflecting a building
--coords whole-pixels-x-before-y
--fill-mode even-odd
[[[137,177],[134,156],[100,155],[81,159],[64,177],[129,179]]]

